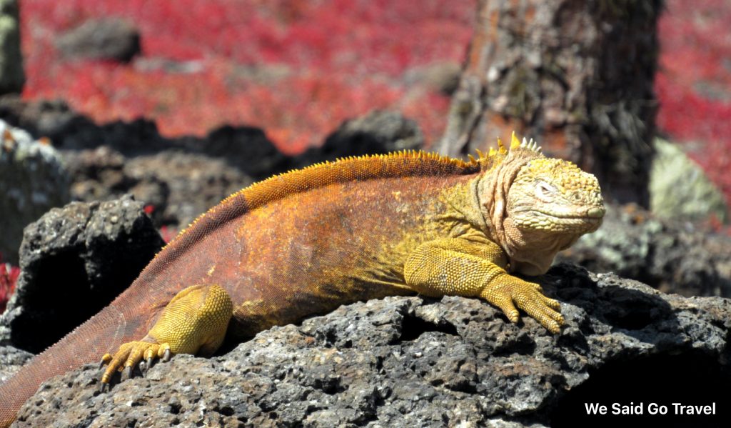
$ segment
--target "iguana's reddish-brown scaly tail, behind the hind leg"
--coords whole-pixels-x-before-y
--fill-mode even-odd
[[[83,364],[99,362],[102,355],[113,352],[122,343],[144,337],[156,311],[142,310],[139,304],[130,300],[135,299],[123,293],[0,385],[0,428],[15,421],[23,403],[48,378]]]

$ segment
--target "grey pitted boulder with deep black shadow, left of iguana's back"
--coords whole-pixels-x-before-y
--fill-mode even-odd
[[[33,353],[53,345],[126,289],[163,244],[131,196],[52,209],[23,235],[0,344]]]

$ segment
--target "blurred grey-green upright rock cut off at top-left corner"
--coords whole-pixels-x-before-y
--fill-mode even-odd
[[[20,94],[24,83],[18,0],[0,0],[0,94]]]

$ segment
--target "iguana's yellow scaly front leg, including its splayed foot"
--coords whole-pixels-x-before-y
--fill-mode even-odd
[[[552,333],[564,318],[558,301],[542,294],[540,285],[505,271],[507,257],[494,242],[481,236],[436,239],[421,244],[404,265],[406,285],[425,296],[481,297],[517,323],[518,308]]]

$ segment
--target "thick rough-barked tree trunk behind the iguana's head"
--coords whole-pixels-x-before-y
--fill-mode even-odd
[[[648,206],[662,0],[480,0],[452,98],[450,156],[515,130],[599,177],[607,198]]]

